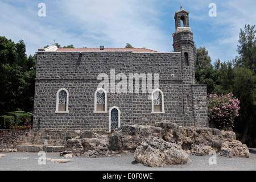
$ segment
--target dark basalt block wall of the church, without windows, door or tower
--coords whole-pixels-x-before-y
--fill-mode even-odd
[[[109,109],[121,111],[120,123],[154,125],[170,121],[181,126],[207,126],[206,87],[184,83],[181,53],[133,53],[131,51],[38,52],[36,72],[34,129],[40,130],[109,130]],[[127,93],[110,92],[110,71],[127,76]],[[94,113],[94,93],[102,80],[109,78],[107,112]],[[159,75],[159,89],[164,94],[165,113],[154,114],[150,92],[129,93],[129,74]],[[192,78],[191,78],[192,79]],[[120,80],[115,81],[115,85]],[[135,88],[135,80],[133,88]],[[56,113],[56,94],[61,88],[69,93],[68,113]],[[184,106],[187,92],[190,112]],[[188,114],[187,114],[188,113]],[[206,115],[205,115],[206,114]]]

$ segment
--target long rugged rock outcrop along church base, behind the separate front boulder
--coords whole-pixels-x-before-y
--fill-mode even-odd
[[[228,151],[228,156],[249,157],[248,148],[236,140],[233,131],[181,127],[171,122],[160,122],[155,126],[122,125],[112,133],[103,134],[85,131],[76,139],[67,140],[66,149],[76,156],[86,155],[90,158],[127,151],[135,152],[137,149],[143,151],[143,146],[148,146],[154,151],[156,149],[152,148],[158,145],[148,143],[148,138],[152,137],[155,141],[156,138],[161,139],[158,141],[162,144],[163,141],[176,144],[191,155],[208,155],[210,151],[224,154],[224,151]]]

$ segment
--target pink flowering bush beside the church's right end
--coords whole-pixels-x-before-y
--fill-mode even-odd
[[[217,129],[224,127],[234,127],[234,118],[237,117],[240,110],[240,101],[232,93],[208,94],[208,119],[210,125]]]

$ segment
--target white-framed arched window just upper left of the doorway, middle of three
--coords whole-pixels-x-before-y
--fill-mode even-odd
[[[107,110],[106,90],[98,88],[94,94],[94,113],[106,113]]]

